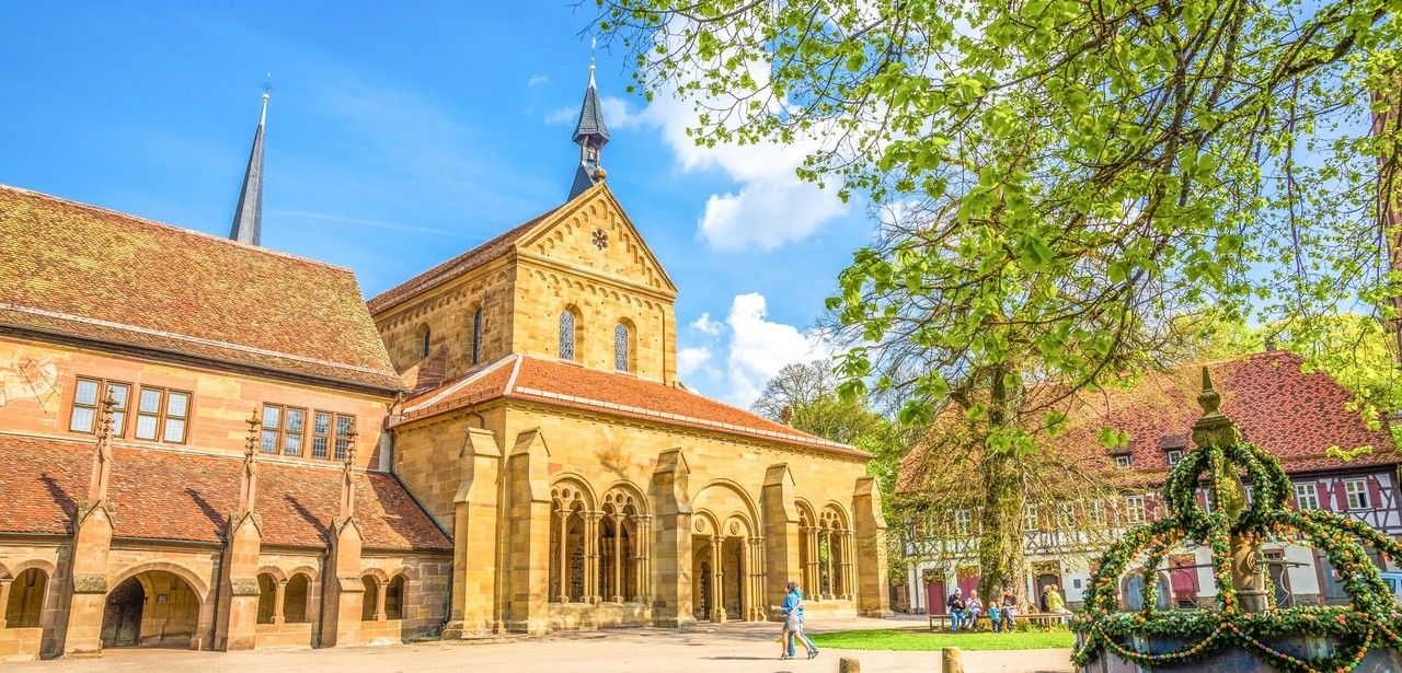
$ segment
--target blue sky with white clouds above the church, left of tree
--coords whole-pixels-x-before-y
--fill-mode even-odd
[[[3,1],[0,182],[226,236],[272,72],[264,245],[366,296],[561,203],[592,3]],[[608,182],[680,287],[683,380],[749,404],[869,237],[799,153],[700,150],[600,50]]]

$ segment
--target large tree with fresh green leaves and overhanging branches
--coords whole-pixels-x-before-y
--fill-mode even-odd
[[[1155,366],[1185,313],[1395,318],[1389,0],[599,1],[698,143],[803,142],[802,177],[897,213],[829,304],[840,390],[981,429],[986,579],[1019,564],[1019,419],[1060,414],[1029,381]]]

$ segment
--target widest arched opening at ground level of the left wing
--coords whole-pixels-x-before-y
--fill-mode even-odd
[[[116,585],[102,613],[104,648],[188,648],[199,625],[199,594],[184,579],[147,571]]]

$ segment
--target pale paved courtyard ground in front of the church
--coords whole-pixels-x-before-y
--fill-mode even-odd
[[[908,623],[904,623],[908,624]],[[824,620],[813,631],[890,628],[883,620]],[[862,673],[939,672],[938,652],[824,649],[815,660],[778,660],[777,624],[702,625],[693,631],[610,630],[495,642],[421,642],[384,648],[272,652],[108,651],[101,659],[0,665],[4,673],[167,673],[177,670],[280,673],[502,670],[614,672],[834,672],[840,656],[861,660]],[[817,627],[817,625],[815,625]],[[965,652],[969,673],[1067,673],[1070,651]]]

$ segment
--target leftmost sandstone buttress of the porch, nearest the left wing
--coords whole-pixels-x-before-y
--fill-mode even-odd
[[[453,596],[443,638],[492,634],[496,583],[496,480],[502,449],[496,433],[468,428],[458,453],[458,485],[453,496]],[[492,550],[492,554],[485,554]]]

